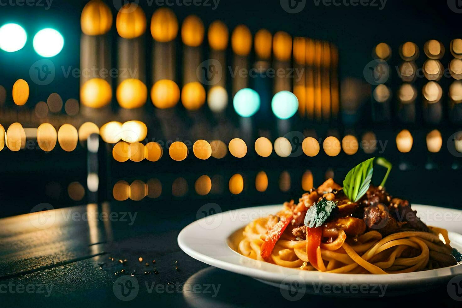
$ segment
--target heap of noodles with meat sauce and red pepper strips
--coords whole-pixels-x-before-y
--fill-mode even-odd
[[[320,227],[304,226],[308,209],[325,198],[337,202],[336,211]],[[447,231],[427,227],[406,200],[369,187],[351,202],[332,179],[305,193],[298,204],[286,202],[276,215],[249,223],[237,251],[279,266],[332,273],[407,273],[457,263]]]

